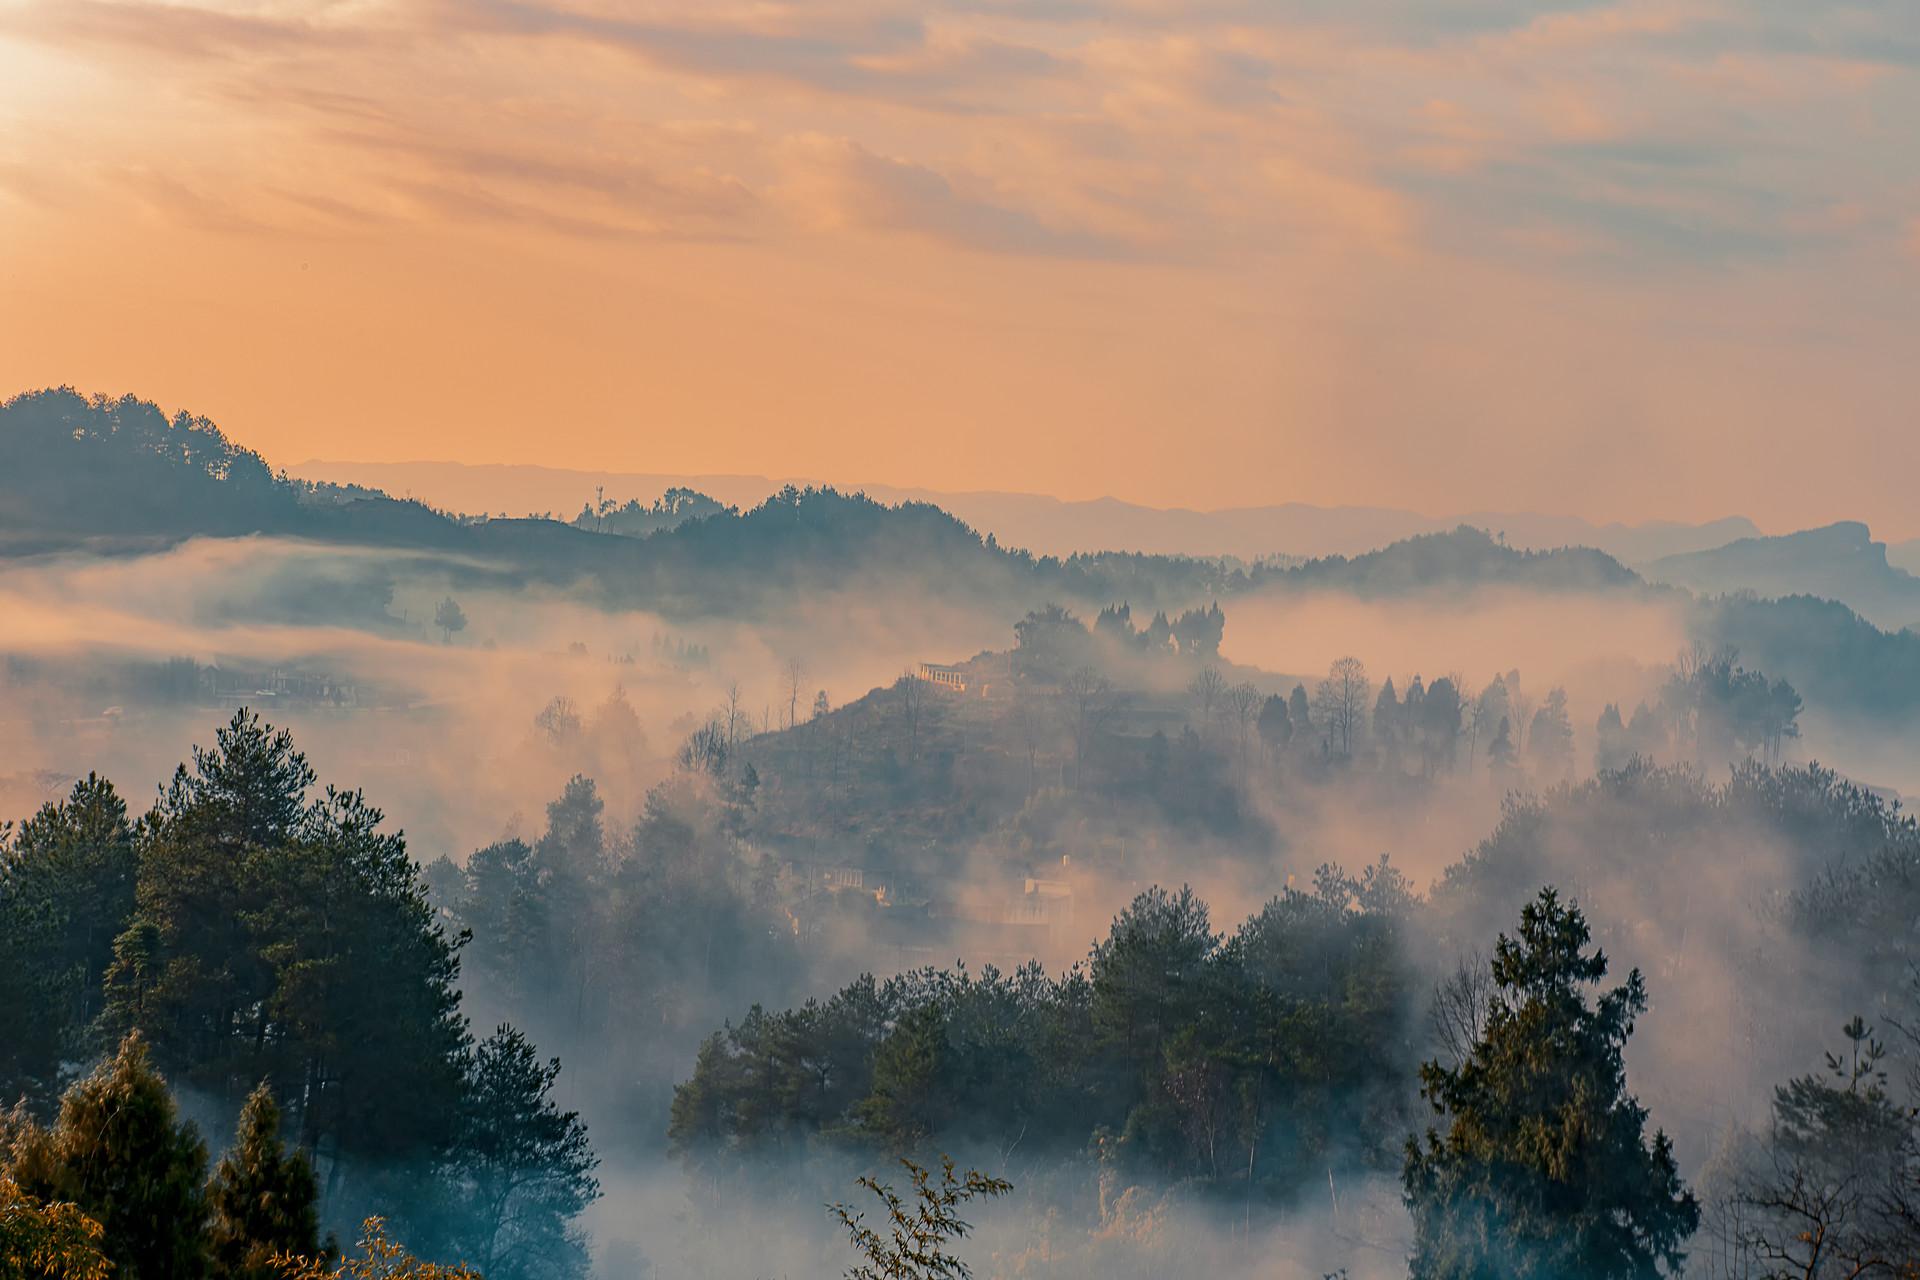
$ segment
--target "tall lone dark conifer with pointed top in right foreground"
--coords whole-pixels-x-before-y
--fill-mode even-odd
[[[1421,1067],[1448,1130],[1409,1138],[1402,1182],[1415,1280],[1674,1274],[1699,1205],[1672,1142],[1645,1142],[1622,1050],[1647,1007],[1640,971],[1590,1007],[1607,975],[1586,917],[1544,889],[1494,948],[1496,992],[1469,1059]]]

